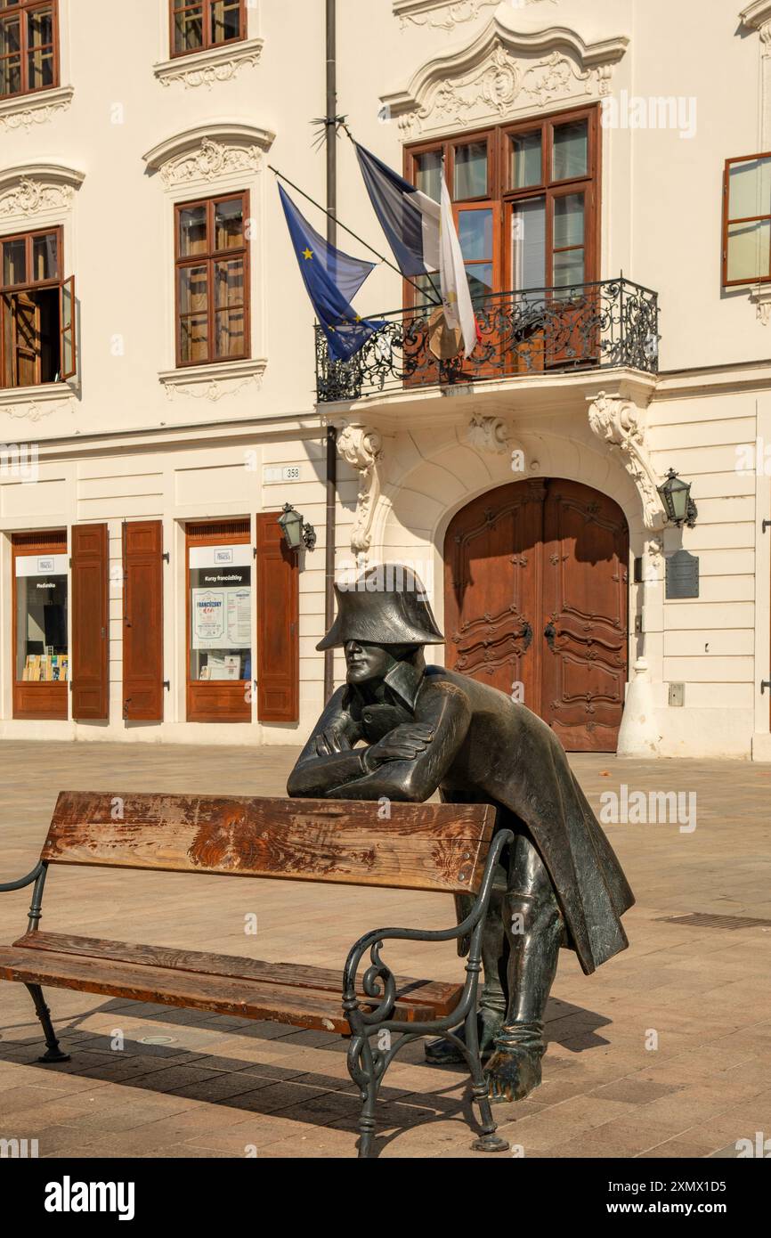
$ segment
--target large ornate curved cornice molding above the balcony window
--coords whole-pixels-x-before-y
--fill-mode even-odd
[[[381,102],[410,139],[554,100],[601,98],[627,46],[626,36],[587,43],[568,26],[522,33],[494,16],[475,40],[427,61],[405,89]]]

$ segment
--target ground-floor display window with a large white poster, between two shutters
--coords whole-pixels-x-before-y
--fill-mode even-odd
[[[251,719],[252,569],[249,520],[188,525],[188,722]]]

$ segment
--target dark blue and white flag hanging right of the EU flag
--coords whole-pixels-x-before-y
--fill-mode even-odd
[[[453,219],[449,191],[442,176],[442,199],[434,202],[364,146],[356,146],[359,167],[394,256],[402,275],[439,272],[444,318],[460,327],[463,350],[474,352],[478,340],[463,253]]]

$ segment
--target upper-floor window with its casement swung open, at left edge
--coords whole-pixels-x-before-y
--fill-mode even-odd
[[[74,279],[62,279],[62,230],[0,238],[0,374],[4,387],[73,378]]]

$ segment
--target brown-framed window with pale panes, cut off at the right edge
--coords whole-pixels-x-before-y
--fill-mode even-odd
[[[725,162],[723,285],[771,280],[771,154]]]

